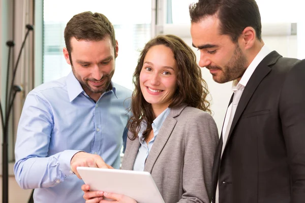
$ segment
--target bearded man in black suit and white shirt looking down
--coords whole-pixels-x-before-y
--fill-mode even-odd
[[[305,202],[305,60],[264,45],[254,0],[199,0],[190,16],[199,65],[233,81],[213,202]]]

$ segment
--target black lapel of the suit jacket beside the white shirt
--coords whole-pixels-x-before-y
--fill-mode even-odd
[[[247,107],[250,98],[252,97],[253,93],[255,92],[256,88],[260,84],[260,82],[263,80],[263,78],[271,71],[271,68],[269,65],[272,65],[277,62],[277,60],[282,57],[278,52],[272,51],[269,53],[256,67],[253,75],[251,76],[248,84],[245,87],[245,90],[243,90],[243,93],[240,97],[232,125],[229,131],[228,140],[229,141],[232,131],[234,130],[234,127],[236,126],[242,112]]]

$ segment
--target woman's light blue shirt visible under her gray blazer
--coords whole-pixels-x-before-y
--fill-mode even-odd
[[[153,144],[156,140],[159,130],[160,130],[163,122],[165,121],[166,117],[168,116],[169,112],[170,112],[170,108],[167,108],[151,124],[151,127],[153,127],[153,131],[154,131],[154,138],[151,139],[148,142],[148,144],[145,141],[142,141],[142,135],[143,135],[144,130],[146,129],[146,123],[141,122],[141,129],[139,130],[139,133],[138,133],[139,141],[140,141],[141,145],[139,147],[139,151],[138,151],[135,163],[134,163],[133,171],[144,171],[146,158],[148,157],[151,147],[153,147]]]

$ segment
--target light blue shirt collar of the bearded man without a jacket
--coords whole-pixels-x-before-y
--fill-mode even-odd
[[[115,97],[117,98],[116,92],[115,92],[115,85],[111,81],[109,91],[113,91]],[[80,93],[84,92],[82,86],[78,82],[78,80],[75,78],[73,72],[71,71],[70,74],[67,76],[67,91],[69,95],[69,101],[73,101]],[[102,96],[105,94],[105,92],[102,94]]]

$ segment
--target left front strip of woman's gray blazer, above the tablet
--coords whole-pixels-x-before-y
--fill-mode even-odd
[[[130,134],[130,132],[128,133]],[[127,138],[127,140],[127,148],[123,157],[122,169],[133,170],[133,166],[141,144],[139,138],[136,138],[135,140],[130,140]]]

